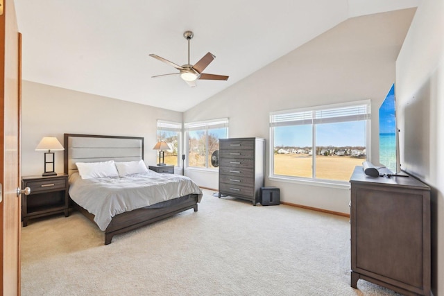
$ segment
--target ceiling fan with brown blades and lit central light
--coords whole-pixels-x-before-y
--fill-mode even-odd
[[[174,68],[178,69],[178,73],[169,73],[169,74],[163,74],[163,75],[157,75],[153,76],[152,78],[157,78],[161,76],[168,76],[168,75],[179,75],[180,77],[187,82],[187,84],[190,87],[196,87],[196,80],[228,80],[228,76],[223,75],[216,75],[216,74],[207,74],[202,73],[202,71],[216,58],[212,53],[207,53],[203,56],[196,64],[191,65],[189,63],[189,41],[193,38],[194,33],[191,31],[185,31],[183,33],[183,37],[185,37],[186,40],[188,40],[188,64],[183,64],[182,66],[179,66],[178,64],[175,64],[173,62],[170,62],[169,60],[166,60],[164,58],[161,58],[159,55],[155,55],[151,53],[150,56],[153,58],[160,60],[161,62],[167,63],[170,66],[173,66]]]

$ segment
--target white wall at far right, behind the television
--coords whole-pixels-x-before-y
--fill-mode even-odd
[[[432,290],[444,295],[444,1],[423,0],[396,61],[402,168],[432,187]]]

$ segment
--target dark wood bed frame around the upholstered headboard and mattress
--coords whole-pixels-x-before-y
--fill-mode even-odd
[[[65,144],[65,162],[64,162],[64,171],[65,173],[69,173],[69,138],[70,137],[90,137],[90,138],[113,138],[113,139],[140,139],[142,141],[142,155],[141,159],[144,158],[144,138],[142,137],[119,137],[119,136],[101,136],[101,135],[92,135],[92,134],[65,134],[64,135],[64,144]],[[103,161],[103,159],[97,160],[98,162]],[[173,204],[168,207],[160,207],[160,208],[150,208],[145,207],[142,209],[135,209],[133,211],[128,211],[122,214],[118,214],[114,216],[110,222],[110,225],[105,229],[105,245],[108,245],[112,241],[112,237],[116,234],[122,234],[124,232],[128,232],[130,230],[154,223],[158,220],[162,220],[164,218],[168,218],[170,216],[176,215],[182,211],[186,211],[188,209],[194,209],[194,211],[198,210],[198,195],[189,194],[178,198],[180,202]],[[90,214],[86,209],[80,207],[73,200],[72,206],[74,209],[77,209],[85,215],[89,220],[94,222],[94,215]],[[162,204],[162,202],[160,203]]]

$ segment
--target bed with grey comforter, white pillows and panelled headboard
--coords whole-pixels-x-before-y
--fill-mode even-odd
[[[202,191],[198,189],[198,186],[194,184],[194,182],[189,180],[189,178],[180,175],[160,174],[147,169],[146,173],[138,172],[135,175],[125,175],[121,177],[113,175],[112,177],[103,178],[104,182],[112,182],[114,189],[119,189],[119,191],[123,189],[123,187],[130,186],[129,184],[132,182],[130,179],[132,177],[139,180],[138,182],[143,182],[142,179],[145,175],[149,175],[147,178],[150,178],[150,180],[153,178],[154,180],[159,181],[146,181],[151,182],[153,186],[156,186],[155,191],[145,193],[145,195],[151,195],[151,198],[154,198],[154,200],[144,198],[146,201],[142,201],[141,196],[144,193],[141,193],[142,191],[140,190],[142,189],[139,189],[139,187],[142,186],[140,184],[136,184],[133,189],[129,189],[129,192],[123,191],[122,195],[127,195],[126,197],[121,197],[120,193],[119,197],[113,195],[112,198],[115,200],[108,202],[108,204],[121,204],[122,202],[125,202],[123,198],[133,198],[131,197],[132,195],[137,198],[137,201],[130,202],[129,206],[127,204],[123,206],[120,205],[117,210],[107,209],[107,211],[111,211],[110,217],[106,219],[109,220],[109,223],[103,222],[103,220],[99,219],[103,215],[96,212],[98,206],[92,208],[90,204],[91,201],[96,202],[98,199],[107,198],[106,196],[101,196],[103,194],[106,195],[106,193],[103,193],[105,187],[100,187],[101,185],[97,184],[97,188],[95,188],[96,185],[94,185],[95,183],[102,182],[102,180],[101,178],[83,180],[85,174],[80,177],[79,173],[83,173],[84,168],[82,167],[81,169],[83,171],[80,172],[78,171],[76,164],[99,165],[107,162],[112,162],[114,164],[133,164],[140,162],[141,159],[143,161],[144,138],[92,134],[64,134],[64,143],[64,171],[69,175],[69,197],[72,207],[80,211],[83,215],[89,218],[89,220],[92,220],[92,222],[105,232],[105,245],[110,244],[112,237],[116,234],[122,234],[144,225],[154,223],[188,209],[194,209],[194,211],[198,210],[198,202],[200,202],[200,198],[202,198]],[[121,185],[119,182],[123,182],[124,185]],[[192,187],[192,189],[178,188],[176,191],[173,189],[174,193],[171,193],[169,187],[176,186],[173,184],[178,182],[187,182],[186,186]],[[85,184],[82,183],[90,186],[90,191],[87,187],[84,187],[83,185]],[[80,191],[87,194],[78,195]],[[183,192],[186,192],[186,194],[183,194]],[[173,194],[175,194],[175,196],[172,196]],[[121,198],[121,200],[117,200],[117,198]],[[108,205],[103,205],[103,208],[105,207],[108,207]]]

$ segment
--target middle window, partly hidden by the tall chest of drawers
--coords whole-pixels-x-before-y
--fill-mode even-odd
[[[228,138],[228,119],[185,123],[188,143],[187,164],[196,168],[214,168],[211,155],[219,150],[219,139]]]

